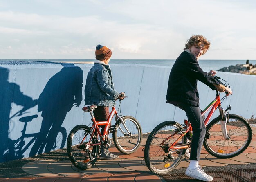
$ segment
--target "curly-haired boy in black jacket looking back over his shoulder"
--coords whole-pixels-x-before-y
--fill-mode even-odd
[[[212,90],[225,91],[227,96],[232,94],[230,88],[214,79],[215,71],[204,72],[198,64],[199,57],[206,53],[209,47],[210,42],[202,35],[190,37],[184,52],[176,59],[171,69],[166,94],[166,102],[184,110],[193,128],[191,152],[186,151],[190,164],[185,174],[204,181],[212,181],[213,178],[198,165],[206,128],[199,108],[197,81],[201,81]]]

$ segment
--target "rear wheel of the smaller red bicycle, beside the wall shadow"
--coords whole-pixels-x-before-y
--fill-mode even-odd
[[[72,164],[78,169],[90,169],[95,164],[99,156],[99,145],[89,147],[90,155],[94,158],[93,160],[90,160],[89,153],[85,149],[85,143],[90,140],[91,135],[90,127],[86,125],[77,125],[70,131],[70,134],[67,137],[68,157]],[[84,137],[84,145],[81,145]],[[91,143],[98,143],[96,135],[92,136]]]

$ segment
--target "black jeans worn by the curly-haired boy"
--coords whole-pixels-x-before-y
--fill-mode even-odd
[[[201,110],[199,107],[190,104],[173,104],[186,112],[188,121],[191,123],[193,129],[193,136],[191,141],[190,160],[199,161],[204,136],[206,134],[206,127],[204,125],[203,118],[201,116]]]

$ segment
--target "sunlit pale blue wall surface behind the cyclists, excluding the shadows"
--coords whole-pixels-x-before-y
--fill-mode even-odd
[[[92,64],[75,64],[75,66],[80,67],[83,71],[82,95],[84,99],[85,80]],[[38,99],[50,79],[63,68],[60,64],[0,65],[0,67],[9,70],[8,83],[15,83],[20,86],[20,92],[32,99]],[[69,64],[67,64],[66,67],[68,68]],[[122,101],[122,114],[137,118],[141,123],[144,133],[150,132],[156,125],[166,120],[174,120],[183,123],[184,118],[186,118],[185,112],[175,108],[171,104],[167,104],[165,100],[168,77],[171,70],[170,67],[120,64],[111,65],[111,68],[115,89],[118,92],[126,92],[128,96],[128,98]],[[64,76],[68,77],[69,75]],[[228,102],[231,105],[230,113],[238,114],[245,118],[250,118],[252,114],[256,114],[256,76],[225,72],[219,72],[218,76],[227,80],[233,90],[233,95],[228,97]],[[62,80],[62,82],[62,84],[64,84],[65,80]],[[57,90],[55,91],[59,92],[59,87],[56,88]],[[61,87],[59,89],[61,89]],[[215,98],[216,92],[200,82],[198,82],[198,90],[200,94],[200,107],[204,109]],[[8,92],[8,90],[6,90],[6,92]],[[15,94],[16,93],[13,92],[14,96]],[[88,125],[91,123],[90,114],[82,111],[83,103],[84,101],[82,100],[79,107],[72,107],[72,109],[67,112],[62,123],[62,127],[66,129],[67,134],[75,125]],[[225,102],[223,102],[222,107],[226,108],[224,103]],[[51,105],[50,100],[49,105]],[[11,110],[5,112],[10,112],[9,117],[11,117],[22,109],[22,107],[22,105],[11,103]],[[59,105],[60,110],[62,107],[62,105]],[[9,121],[8,133],[12,141],[18,140],[23,130],[24,123],[19,121],[20,117],[34,114],[37,114],[38,118],[33,119],[27,124],[26,133],[32,134],[40,131],[43,117],[41,116],[41,112],[38,112],[38,105],[35,105],[29,108],[22,116],[13,117]],[[217,116],[217,114],[218,111],[214,116]],[[24,138],[24,146],[26,146],[32,138],[33,137]],[[33,145],[34,143],[29,145],[28,149],[22,151],[24,157],[29,156]],[[57,148],[58,146],[55,149]]]

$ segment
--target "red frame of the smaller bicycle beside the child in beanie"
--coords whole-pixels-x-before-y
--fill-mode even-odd
[[[112,111],[110,112],[109,116],[108,116],[108,120],[107,121],[96,121],[96,119],[94,118],[93,112],[89,111],[91,116],[92,116],[92,135],[90,137],[90,140],[88,141],[88,143],[90,143],[90,141],[92,140],[92,137],[95,133],[95,131],[97,132],[97,134],[99,134],[100,137],[100,142],[99,143],[94,143],[94,144],[90,144],[90,146],[94,146],[94,145],[101,145],[102,141],[103,141],[103,136],[106,136],[108,134],[108,129],[111,125],[111,120],[114,117],[114,115],[117,115],[117,110],[115,109],[115,107],[112,107]],[[103,131],[103,135],[101,135],[101,132],[99,130],[99,126],[103,126],[105,125],[104,131]],[[81,145],[84,142],[86,136],[83,138],[83,140],[81,141]]]

